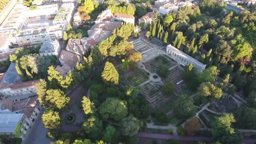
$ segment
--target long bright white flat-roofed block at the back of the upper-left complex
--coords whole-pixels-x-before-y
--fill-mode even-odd
[[[27,8],[26,16],[27,17],[50,16],[50,15],[56,15],[58,12],[59,12],[58,4],[40,5],[40,6],[37,6],[35,10],[30,10],[29,8]]]

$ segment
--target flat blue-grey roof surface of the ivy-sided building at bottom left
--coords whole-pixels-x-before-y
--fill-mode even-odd
[[[13,133],[24,114],[0,114],[0,132]]]

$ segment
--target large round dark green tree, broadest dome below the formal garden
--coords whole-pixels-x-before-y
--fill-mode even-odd
[[[127,102],[118,98],[108,98],[99,106],[99,114],[106,119],[122,120],[128,114]]]

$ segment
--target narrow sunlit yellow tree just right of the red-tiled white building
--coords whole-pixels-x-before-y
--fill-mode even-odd
[[[40,79],[39,82],[35,83],[35,89],[37,91],[38,95],[38,101],[44,106],[48,107],[47,102],[45,101],[45,96],[46,96],[46,90],[47,90],[47,83]]]

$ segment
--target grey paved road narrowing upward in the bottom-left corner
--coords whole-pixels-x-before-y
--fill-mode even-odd
[[[34,122],[33,127],[27,132],[27,137],[21,144],[50,144],[52,139],[48,139],[47,128],[43,127],[42,118],[43,110]]]

